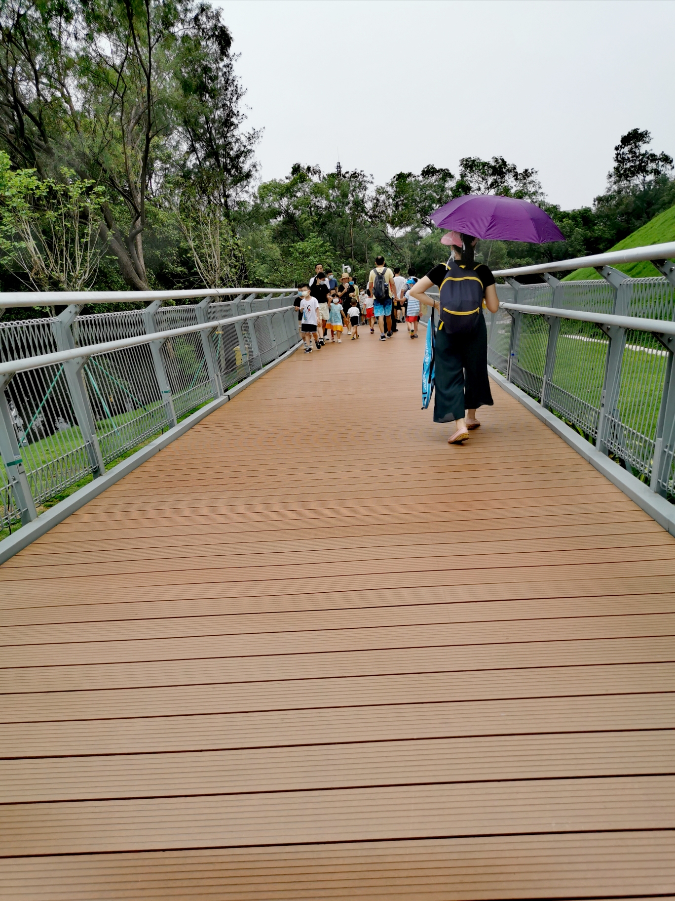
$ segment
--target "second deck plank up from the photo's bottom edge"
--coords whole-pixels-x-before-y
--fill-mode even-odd
[[[675,830],[675,776],[4,805],[0,846],[15,856],[615,829]]]

